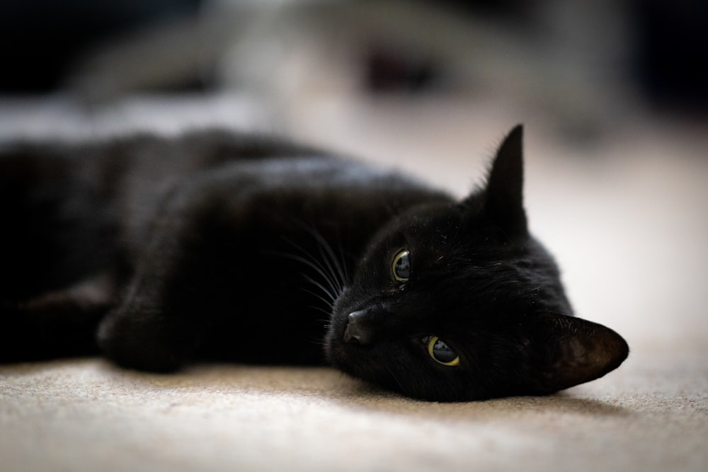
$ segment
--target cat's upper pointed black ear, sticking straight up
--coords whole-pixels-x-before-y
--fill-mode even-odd
[[[523,125],[517,125],[499,146],[484,192],[484,213],[510,234],[527,230],[523,205],[523,133]]]

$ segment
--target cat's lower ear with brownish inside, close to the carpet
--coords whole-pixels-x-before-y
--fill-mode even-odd
[[[552,393],[598,379],[622,364],[629,346],[622,336],[598,323],[573,316],[544,314],[534,321],[530,348],[537,360],[535,383]]]

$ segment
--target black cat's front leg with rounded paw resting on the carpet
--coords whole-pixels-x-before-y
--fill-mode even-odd
[[[197,355],[225,311],[222,286],[229,277],[222,266],[230,249],[219,241],[238,231],[217,217],[226,200],[238,197],[198,177],[167,197],[135,276],[98,329],[106,357],[123,367],[171,372]]]

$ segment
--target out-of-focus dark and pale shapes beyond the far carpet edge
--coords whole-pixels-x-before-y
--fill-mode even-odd
[[[647,108],[702,119],[707,30],[700,0],[6,0],[0,93],[237,92],[286,124],[467,100],[590,142]]]

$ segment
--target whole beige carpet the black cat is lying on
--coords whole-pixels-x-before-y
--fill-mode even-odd
[[[200,105],[209,113],[183,105],[191,122],[240,125],[214,118],[215,103]],[[91,119],[61,103],[5,105],[2,137],[154,122],[142,105]],[[559,259],[578,315],[627,338],[616,372],[544,398],[437,404],[331,369],[0,366],[0,470],[708,470],[707,127],[653,117],[577,146],[530,113],[448,105],[328,108],[288,129],[462,195],[525,121],[532,229]],[[162,127],[176,115],[148,108]]]

